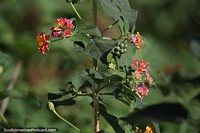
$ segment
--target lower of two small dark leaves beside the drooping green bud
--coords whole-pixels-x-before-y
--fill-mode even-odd
[[[65,100],[60,100],[60,101],[51,101],[53,102],[54,106],[71,106],[76,103],[76,101],[73,98],[65,99]]]

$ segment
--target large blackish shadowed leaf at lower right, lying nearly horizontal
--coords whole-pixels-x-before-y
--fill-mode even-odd
[[[160,103],[145,107],[122,119],[130,124],[139,119],[180,122],[186,119],[187,115],[188,111],[181,104]]]

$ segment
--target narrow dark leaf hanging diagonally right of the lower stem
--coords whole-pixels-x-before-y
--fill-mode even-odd
[[[93,102],[90,105],[93,107]],[[118,123],[119,119],[109,114],[103,104],[99,104],[99,113],[112,126],[116,133],[125,133]]]

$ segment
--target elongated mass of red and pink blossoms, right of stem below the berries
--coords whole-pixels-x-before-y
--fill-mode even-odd
[[[143,98],[149,93],[147,85],[151,86],[153,84],[153,79],[149,75],[149,62],[134,59],[132,67],[135,68],[135,71],[132,72],[132,77],[135,79],[135,86],[133,87],[133,90],[135,90],[137,94]]]

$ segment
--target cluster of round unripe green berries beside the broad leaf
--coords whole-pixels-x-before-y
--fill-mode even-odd
[[[126,41],[118,42],[118,46],[114,47],[112,50],[112,54],[116,56],[121,56],[122,54],[127,52],[128,44]]]

